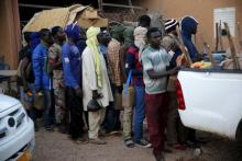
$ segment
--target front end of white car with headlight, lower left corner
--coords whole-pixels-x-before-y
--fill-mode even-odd
[[[0,94],[0,161],[15,161],[32,153],[34,138],[34,124],[23,105]]]

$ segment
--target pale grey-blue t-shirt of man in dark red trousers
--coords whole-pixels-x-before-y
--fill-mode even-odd
[[[147,94],[160,94],[166,92],[167,77],[160,79],[151,79],[147,74],[147,70],[154,70],[155,72],[166,71],[166,67],[169,66],[168,54],[165,49],[154,49],[148,46],[142,53],[142,64],[144,69],[144,83],[145,92]]]

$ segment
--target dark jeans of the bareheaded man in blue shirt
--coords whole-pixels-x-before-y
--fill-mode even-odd
[[[44,108],[44,125],[51,126],[52,124],[52,116],[51,116],[51,110],[52,110],[52,91],[51,90],[44,90],[44,102],[45,102],[45,108]]]

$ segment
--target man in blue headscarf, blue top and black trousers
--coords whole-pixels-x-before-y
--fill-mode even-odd
[[[76,24],[67,25],[65,33],[68,39],[63,45],[62,51],[66,105],[70,114],[69,134],[74,141],[84,142],[81,61],[80,53],[76,46],[80,36],[79,26]]]

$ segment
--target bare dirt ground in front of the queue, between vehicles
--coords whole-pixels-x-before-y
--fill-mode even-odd
[[[155,161],[152,149],[125,148],[122,137],[107,137],[105,146],[76,145],[67,135],[58,131],[36,133],[34,161]],[[193,157],[193,150],[174,151],[166,154],[166,161]],[[182,159],[183,160],[183,159]],[[185,161],[185,160],[184,160]]]

